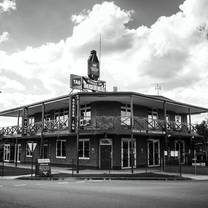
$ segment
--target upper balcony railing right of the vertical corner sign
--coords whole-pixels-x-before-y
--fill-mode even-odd
[[[155,133],[165,134],[196,134],[196,125],[179,123],[174,121],[148,119],[134,116],[133,127],[131,128],[130,117],[115,117],[115,116],[96,116],[93,119],[81,118],[80,130],[85,131],[125,131],[132,130],[133,133]]]

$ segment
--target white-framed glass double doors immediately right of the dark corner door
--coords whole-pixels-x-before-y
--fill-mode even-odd
[[[121,165],[122,168],[131,167],[131,139],[122,139],[121,142]],[[136,166],[136,140],[133,141],[133,162],[134,167]]]

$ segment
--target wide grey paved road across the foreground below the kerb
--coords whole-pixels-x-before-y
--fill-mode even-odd
[[[1,208],[208,207],[208,181],[0,180]]]

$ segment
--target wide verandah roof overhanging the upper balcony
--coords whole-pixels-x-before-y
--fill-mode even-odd
[[[176,113],[187,114],[190,110],[191,114],[200,114],[208,112],[208,108],[194,106],[186,103],[177,102],[163,96],[146,95],[135,92],[79,92],[73,95],[80,95],[80,104],[87,104],[98,101],[114,101],[125,104],[130,104],[130,96],[133,97],[135,105],[146,106],[150,109],[163,109],[164,101],[167,103],[167,111],[174,111]],[[45,104],[45,112],[51,110],[64,109],[69,107],[69,96],[64,95],[53,99],[33,103],[17,108],[8,109],[0,112],[0,116],[17,117],[19,111],[24,107],[29,108],[29,115],[41,112],[42,104]]]

